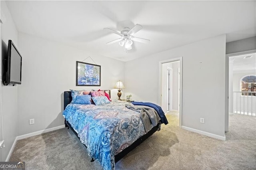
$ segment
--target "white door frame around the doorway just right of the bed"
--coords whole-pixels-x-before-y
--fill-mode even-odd
[[[159,61],[159,80],[158,80],[158,103],[161,106],[162,103],[162,97],[161,97],[161,93],[162,93],[162,64],[164,63],[170,63],[170,62],[174,62],[174,61],[180,61],[180,128],[182,126],[182,57],[178,57],[178,58],[173,58],[173,59],[168,59],[168,60],[163,60],[163,61]]]

